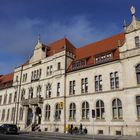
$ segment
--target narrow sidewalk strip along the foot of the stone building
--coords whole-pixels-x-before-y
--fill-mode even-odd
[[[93,139],[93,135],[71,135],[71,134],[65,134],[65,133],[55,133],[55,132],[22,132],[21,135],[30,135],[30,136],[39,136],[39,137],[76,137],[76,138],[85,138],[85,139]],[[107,135],[95,135],[94,138],[96,139],[104,139],[104,140],[140,140],[140,137],[138,136],[107,136]]]

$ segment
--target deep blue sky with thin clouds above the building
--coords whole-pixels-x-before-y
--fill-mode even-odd
[[[30,58],[40,34],[49,44],[68,38],[76,47],[123,32],[140,0],[0,0],[0,74]]]

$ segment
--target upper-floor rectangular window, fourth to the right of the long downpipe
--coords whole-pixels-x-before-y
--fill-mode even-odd
[[[119,76],[118,72],[110,73],[110,88],[116,89],[119,88]]]

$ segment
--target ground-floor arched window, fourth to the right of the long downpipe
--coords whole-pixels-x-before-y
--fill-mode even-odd
[[[112,111],[113,111],[113,119],[122,119],[123,111],[120,99],[114,99],[112,101]]]

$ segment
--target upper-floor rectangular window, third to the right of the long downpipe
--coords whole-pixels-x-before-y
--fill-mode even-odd
[[[95,91],[102,91],[102,75],[95,76]]]

